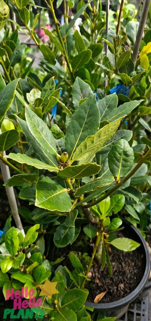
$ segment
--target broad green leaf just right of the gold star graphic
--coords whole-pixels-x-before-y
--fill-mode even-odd
[[[78,311],[84,305],[87,296],[87,289],[71,289],[65,293],[62,299],[62,307]]]

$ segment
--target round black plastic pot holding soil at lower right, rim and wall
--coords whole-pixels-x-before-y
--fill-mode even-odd
[[[151,282],[147,282],[150,274],[150,254],[145,239],[142,237],[137,228],[131,225],[127,220],[122,219],[123,226],[131,234],[131,238],[140,243],[140,251],[144,254],[146,268],[144,276],[136,289],[128,294],[125,298],[111,303],[91,303],[86,301],[86,306],[94,308],[94,312],[103,312],[105,317],[116,317],[118,320],[126,312],[129,304],[135,299],[142,298],[151,288]]]

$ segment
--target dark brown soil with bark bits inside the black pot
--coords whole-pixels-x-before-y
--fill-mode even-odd
[[[132,238],[132,236],[128,235],[127,232],[125,233],[124,230],[119,231],[117,236]],[[80,236],[80,238],[82,237]],[[53,257],[53,259],[61,256],[66,257],[71,251],[73,251],[80,258],[80,260],[84,257],[86,252],[89,256],[91,256],[94,246],[93,242],[95,242],[95,239],[93,238],[91,243],[88,243],[85,236],[83,236],[82,240],[84,247],[81,246],[81,248],[79,247],[81,240],[78,239],[75,241],[75,243],[73,243],[72,247],[68,246],[67,248],[63,249],[55,248],[55,257]],[[80,252],[78,251],[79,248]],[[85,253],[83,254],[83,252]],[[104,271],[101,271],[100,262],[94,262],[94,265],[90,269],[88,277],[92,280],[92,282],[85,283],[85,287],[87,287],[89,290],[87,299],[89,302],[93,302],[96,295],[104,291],[107,292],[101,299],[100,303],[113,302],[122,299],[137,287],[144,275],[145,262],[139,247],[131,252],[121,252],[115,248],[111,248],[109,251],[109,256],[113,272],[112,277],[110,277],[107,265],[105,265]],[[82,260],[81,263],[83,264]],[[68,258],[65,258],[61,264],[68,266],[68,268],[71,270],[71,265]]]

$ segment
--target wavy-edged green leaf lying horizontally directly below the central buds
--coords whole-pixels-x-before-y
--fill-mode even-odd
[[[58,175],[63,178],[82,178],[85,176],[96,175],[101,169],[96,163],[88,163],[65,167],[59,170]]]

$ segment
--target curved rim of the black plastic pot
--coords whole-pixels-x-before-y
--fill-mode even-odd
[[[144,247],[144,254],[146,255],[146,268],[145,268],[145,272],[143,275],[142,280],[140,281],[140,283],[138,284],[138,286],[131,292],[129,293],[126,297],[117,300],[117,301],[113,301],[113,302],[107,302],[107,303],[94,303],[94,302],[85,302],[85,305],[91,308],[95,308],[98,310],[106,310],[106,309],[112,309],[115,308],[115,306],[117,308],[121,307],[121,305],[128,305],[130,304],[130,302],[132,302],[133,300],[135,300],[138,295],[142,292],[143,288],[145,287],[146,282],[148,281],[148,277],[149,277],[149,273],[150,273],[150,254],[149,254],[149,250],[146,244],[145,239],[143,238],[143,236],[141,235],[141,233],[139,232],[139,230],[132,224],[130,224],[129,221],[123,219],[121,217],[122,221],[124,223],[126,223],[127,225],[129,225],[134,231],[135,233],[138,235],[139,239],[140,239],[140,243],[143,245]]]

